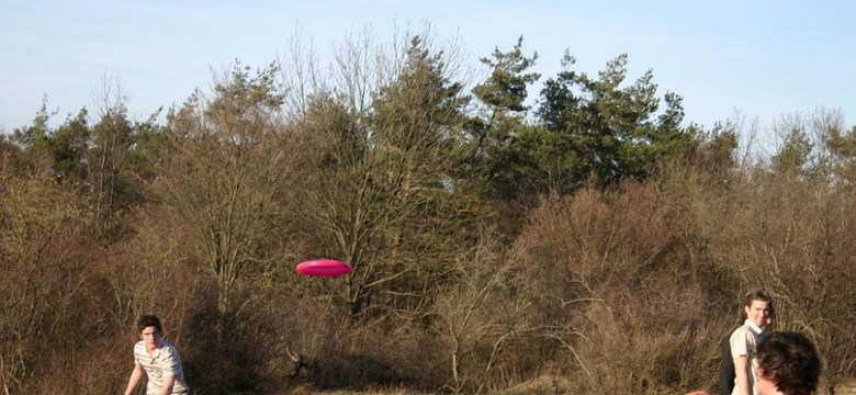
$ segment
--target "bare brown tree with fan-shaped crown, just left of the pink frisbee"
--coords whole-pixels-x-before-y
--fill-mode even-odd
[[[251,75],[236,65],[214,86],[196,92],[171,115],[169,153],[156,190],[195,228],[202,260],[217,289],[223,341],[247,301],[238,282],[275,262],[269,248],[283,182],[292,174],[286,131],[280,122],[278,66]]]

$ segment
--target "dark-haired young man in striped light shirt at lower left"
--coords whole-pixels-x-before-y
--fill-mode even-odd
[[[187,394],[190,392],[181,370],[178,349],[162,339],[160,319],[154,315],[137,320],[139,341],[134,345],[134,371],[127,381],[125,395],[131,395],[143,380],[148,377],[147,395]]]

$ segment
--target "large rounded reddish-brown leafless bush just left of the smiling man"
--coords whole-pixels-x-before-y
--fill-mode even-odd
[[[517,240],[538,284],[531,326],[553,340],[566,374],[587,377],[585,392],[711,383],[716,345],[734,321],[734,274],[711,253],[728,207],[711,180],[675,170],[660,182],[545,200]]]

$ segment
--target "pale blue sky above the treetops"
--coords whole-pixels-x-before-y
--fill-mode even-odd
[[[856,3],[848,1],[12,1],[0,0],[0,131],[30,124],[47,97],[55,121],[98,108],[119,81],[131,116],[181,103],[234,60],[261,67],[300,32],[322,56],[354,32],[384,41],[426,24],[465,60],[495,47],[538,52],[542,81],[565,49],[596,74],[621,53],[629,78],[652,69],[684,97],[687,121],[736,114],[769,125],[819,108],[856,116]],[[540,89],[540,88],[537,88]],[[531,90],[530,95],[537,95]]]

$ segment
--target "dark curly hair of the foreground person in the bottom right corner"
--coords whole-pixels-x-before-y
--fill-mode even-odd
[[[757,359],[759,373],[785,394],[811,394],[818,387],[820,358],[814,345],[802,334],[769,334],[758,345]]]

